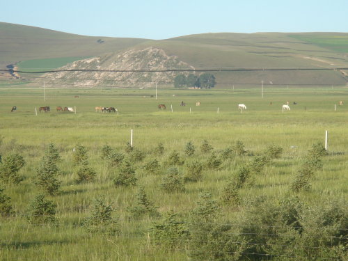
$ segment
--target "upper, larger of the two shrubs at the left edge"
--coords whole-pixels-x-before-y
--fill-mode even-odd
[[[18,174],[18,171],[25,163],[23,157],[17,153],[3,157],[3,162],[0,164],[0,179],[4,183],[19,184],[23,177]]]

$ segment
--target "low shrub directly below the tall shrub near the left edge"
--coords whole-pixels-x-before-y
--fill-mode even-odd
[[[35,196],[29,207],[29,223],[42,224],[56,221],[56,207],[56,204],[52,200],[47,200],[45,195]]]

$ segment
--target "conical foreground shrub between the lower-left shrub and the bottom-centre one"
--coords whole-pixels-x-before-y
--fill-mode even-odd
[[[104,196],[95,198],[90,216],[82,223],[91,233],[115,235],[119,231],[118,222],[112,217],[115,208],[105,202]]]

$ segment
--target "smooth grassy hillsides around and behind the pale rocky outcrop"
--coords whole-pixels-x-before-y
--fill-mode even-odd
[[[120,52],[125,54],[129,49],[136,52],[149,47],[161,49],[166,56],[176,57],[177,61],[196,69],[348,67],[348,33],[204,33],[166,40],[145,40],[89,37],[0,23],[0,45],[3,51],[0,53],[0,63],[24,61],[18,66],[26,70],[58,68],[92,56],[100,56],[100,60],[108,61],[105,63],[108,69],[112,69],[112,63],[117,63],[118,68],[132,69],[131,64],[119,60]],[[146,63],[150,66],[157,58],[148,57]],[[100,65],[100,69],[103,69],[103,65]],[[214,75],[217,87],[222,88],[232,85],[255,86],[261,81],[265,85],[275,86],[344,86],[348,82],[347,70],[265,70],[216,72]],[[139,75],[140,80],[143,78]],[[107,80],[110,79],[113,77],[108,74]],[[133,77],[132,81],[136,79]]]

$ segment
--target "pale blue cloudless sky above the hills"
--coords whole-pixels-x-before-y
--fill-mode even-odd
[[[0,22],[90,36],[166,39],[196,33],[348,33],[348,0],[17,0]]]

